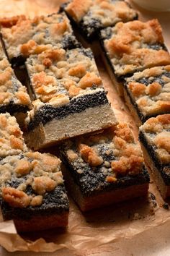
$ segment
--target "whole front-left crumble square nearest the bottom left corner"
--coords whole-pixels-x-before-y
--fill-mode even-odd
[[[68,197],[61,161],[49,153],[27,152],[0,161],[0,202],[4,220],[17,231],[68,225]]]

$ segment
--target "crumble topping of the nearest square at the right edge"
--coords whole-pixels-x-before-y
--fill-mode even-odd
[[[154,148],[158,160],[161,163],[170,162],[170,114],[156,116],[148,119],[140,127],[140,131],[145,134],[149,145]]]

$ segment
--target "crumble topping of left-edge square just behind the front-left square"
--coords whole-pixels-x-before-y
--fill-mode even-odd
[[[27,151],[27,146],[17,120],[7,113],[0,114],[0,157],[17,155],[22,151]]]

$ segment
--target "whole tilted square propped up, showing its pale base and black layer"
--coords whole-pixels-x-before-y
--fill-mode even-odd
[[[53,48],[30,56],[26,66],[37,98],[26,120],[30,147],[117,123],[90,49]]]

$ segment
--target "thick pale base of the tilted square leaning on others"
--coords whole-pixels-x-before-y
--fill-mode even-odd
[[[44,126],[40,124],[27,135],[28,145],[37,150],[53,145],[55,142],[115,124],[117,121],[109,104],[86,108],[81,113],[71,114],[63,119],[53,119]]]

